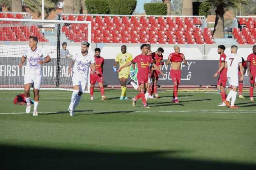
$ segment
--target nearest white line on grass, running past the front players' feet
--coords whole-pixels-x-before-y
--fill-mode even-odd
[[[253,111],[256,110],[242,110],[242,111],[226,111],[226,110],[201,110],[201,111],[133,111],[134,113],[150,113],[150,112],[161,112],[161,113],[253,113]],[[68,112],[68,111],[67,111]],[[112,111],[76,111],[76,113],[111,113]],[[125,112],[125,111],[124,111]],[[61,112],[38,112],[38,114],[58,114]],[[122,113],[122,111],[120,111]],[[14,115],[14,114],[28,114],[24,112],[18,112],[18,113],[0,113],[0,115]]]

